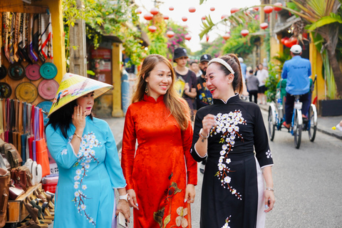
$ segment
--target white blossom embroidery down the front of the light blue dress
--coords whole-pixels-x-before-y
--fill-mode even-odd
[[[69,142],[71,142],[71,138],[69,138]],[[102,145],[100,145],[98,140],[96,140],[96,136],[93,132],[88,133],[88,135],[83,135],[80,150],[78,150],[78,160],[74,165],[74,167],[77,167],[78,165],[81,165],[81,167],[75,171],[76,175],[73,177],[75,180],[73,187],[76,190],[74,193],[75,197],[73,198],[75,206],[78,209],[78,213],[81,215],[84,213],[86,219],[88,219],[89,222],[94,225],[94,227],[96,227],[96,223],[93,217],[90,217],[90,214],[86,213],[86,199],[88,198],[81,190],[79,190],[79,187],[81,186],[83,191],[87,190],[87,185],[84,184],[83,178],[87,176],[87,172],[90,169],[90,162],[98,162],[98,158],[95,157],[95,150],[92,150],[92,148],[100,146]]]

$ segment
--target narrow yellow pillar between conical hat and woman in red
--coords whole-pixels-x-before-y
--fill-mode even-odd
[[[121,62],[122,62],[122,45],[113,43],[112,49],[112,73],[113,73],[113,117],[122,117],[123,109],[121,108]]]

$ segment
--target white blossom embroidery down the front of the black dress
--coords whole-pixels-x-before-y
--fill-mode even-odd
[[[235,140],[243,137],[239,134],[239,126],[238,125],[247,125],[246,121],[242,117],[241,110],[235,110],[234,112],[225,113],[218,113],[216,115],[216,126],[212,128],[210,131],[210,135],[214,133],[222,133],[221,140],[219,141],[222,143],[222,150],[219,152],[219,162],[217,164],[218,172],[217,177],[219,178],[222,187],[226,188],[232,192],[232,195],[235,195],[238,199],[242,200],[242,195],[237,192],[230,184],[231,177],[229,177],[229,172],[231,172],[230,168],[228,167],[229,163],[232,162],[230,158],[227,157],[229,152],[234,147]],[[226,223],[227,224],[227,223]]]

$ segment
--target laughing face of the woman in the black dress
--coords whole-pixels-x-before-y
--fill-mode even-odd
[[[212,98],[227,100],[229,90],[232,90],[232,74],[226,76],[220,69],[219,63],[211,63],[205,76],[207,88],[212,93]]]

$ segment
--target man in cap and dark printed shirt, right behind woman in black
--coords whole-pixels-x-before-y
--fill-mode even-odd
[[[209,54],[204,54],[199,58],[199,68],[202,71],[202,76],[197,77],[197,110],[199,108],[205,107],[207,105],[212,105],[212,93],[208,90],[205,81],[205,74],[207,73],[208,62],[212,60],[212,56]],[[201,164],[199,165],[199,172],[204,173],[204,167],[207,160],[202,160]]]

